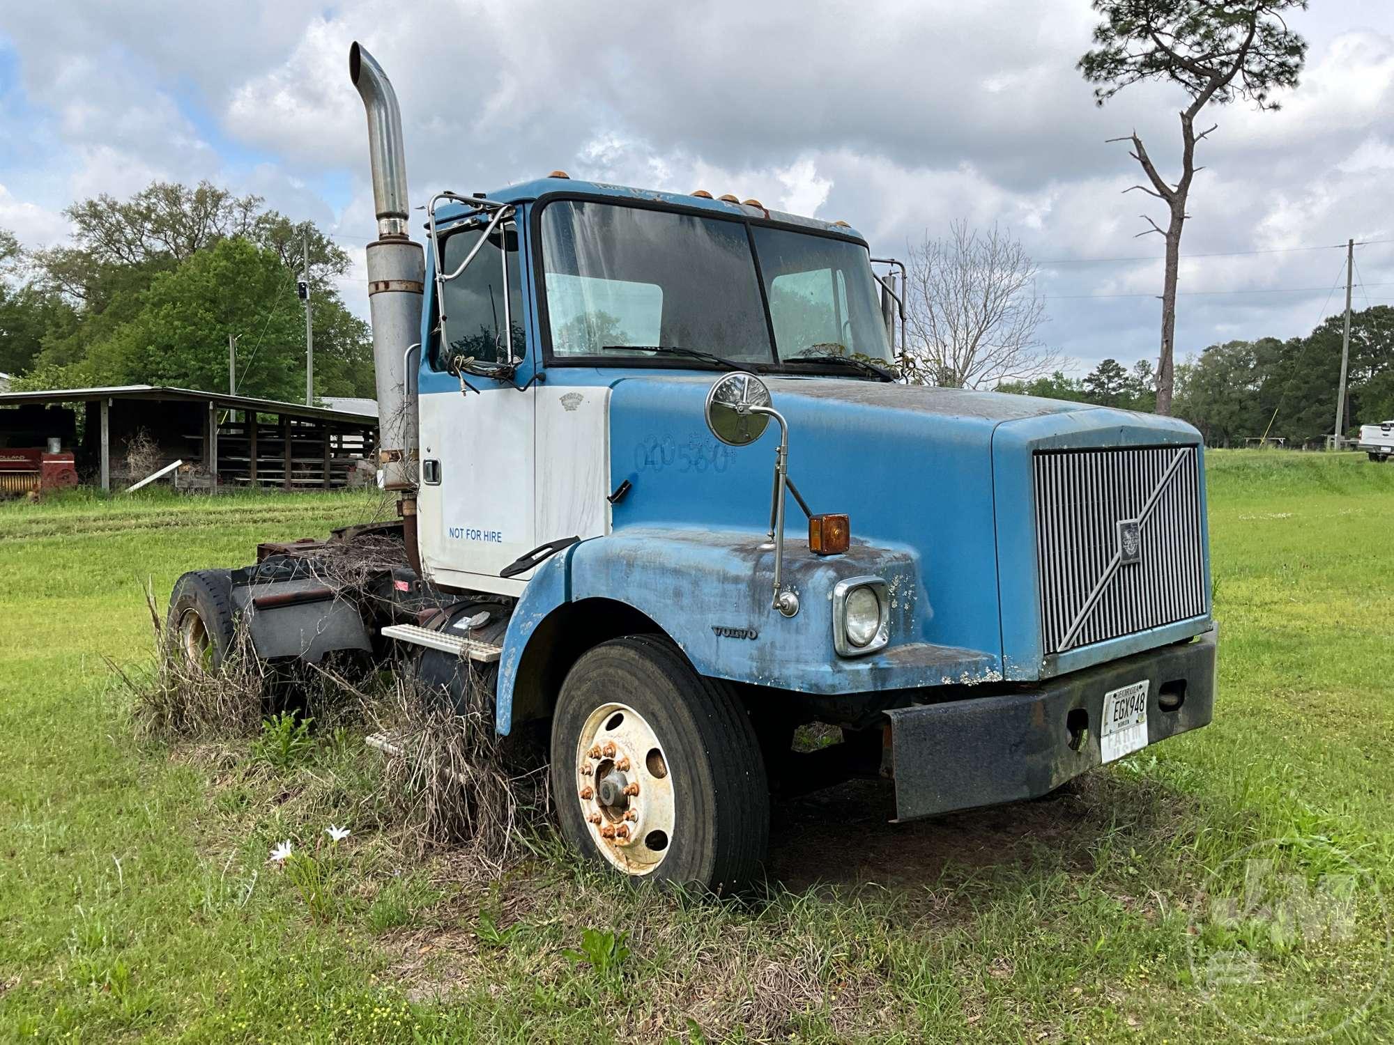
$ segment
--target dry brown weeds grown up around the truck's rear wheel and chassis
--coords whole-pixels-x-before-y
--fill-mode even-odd
[[[400,552],[390,538],[360,536],[323,556],[319,570],[340,585],[355,584],[367,571],[396,562]],[[272,711],[291,708],[311,718],[322,747],[342,747],[353,737],[361,748],[364,733],[388,737],[392,754],[376,761],[375,779],[357,766],[347,775],[351,779],[342,779],[336,772],[343,769],[342,752],[326,754],[318,775],[312,766],[305,771],[309,780],[287,780],[275,804],[296,800],[307,812],[351,805],[355,822],[381,832],[407,865],[449,849],[471,865],[473,876],[496,878],[526,851],[524,836],[545,822],[546,766],[498,736],[492,684],[470,662],[461,665],[463,698],[456,705],[446,692],[420,683],[410,663],[367,679],[350,679],[328,663],[294,673],[268,667],[240,621],[231,648],[213,669],[206,660],[191,662],[177,647],[151,591],[146,603],[153,658],[135,669],[110,665],[138,738],[169,744],[173,757],[198,762],[227,783],[243,783],[247,741]],[[362,761],[372,758],[369,752]]]

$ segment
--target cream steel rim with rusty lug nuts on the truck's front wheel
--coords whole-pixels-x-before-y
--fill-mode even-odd
[[[574,766],[595,847],[627,875],[652,874],[672,850],[676,819],[668,752],[654,727],[626,704],[602,704],[581,726]]]

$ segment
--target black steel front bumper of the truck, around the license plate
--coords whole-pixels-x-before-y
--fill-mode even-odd
[[[1100,765],[1104,694],[1143,679],[1150,683],[1149,744],[1207,725],[1216,645],[1211,630],[1027,692],[887,711],[896,819],[1034,798]],[[1164,711],[1163,702],[1172,705],[1178,695],[1179,704]]]

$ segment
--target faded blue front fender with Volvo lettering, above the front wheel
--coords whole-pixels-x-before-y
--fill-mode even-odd
[[[853,542],[841,556],[786,545],[785,577],[800,609],[771,607],[772,555],[764,534],[687,527],[629,527],[558,553],[528,582],[499,660],[498,730],[512,726],[519,666],[537,628],[565,602],[604,599],[652,620],[703,674],[810,694],[853,694],[1001,680],[997,653],[926,642],[931,607],[919,559],[907,548]],[[838,656],[832,588],[849,577],[891,588],[891,642],[878,653]]]

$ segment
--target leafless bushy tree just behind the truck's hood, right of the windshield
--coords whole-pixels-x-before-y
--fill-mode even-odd
[[[1036,263],[995,224],[988,233],[955,222],[949,235],[910,248],[909,344],[901,359],[914,385],[974,389],[1027,380],[1061,364],[1036,332],[1046,302]]]

